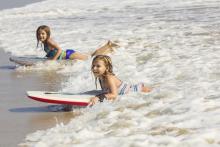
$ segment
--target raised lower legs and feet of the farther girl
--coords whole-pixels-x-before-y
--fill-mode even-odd
[[[92,54],[91,56],[96,56],[96,55],[105,55],[105,54],[108,54],[108,53],[112,53],[114,50],[113,50],[113,47],[119,47],[119,45],[111,42],[110,40],[102,47],[96,49]]]

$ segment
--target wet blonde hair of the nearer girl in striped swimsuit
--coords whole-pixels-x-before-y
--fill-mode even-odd
[[[104,62],[104,65],[106,67],[106,71],[104,73],[104,77],[107,76],[107,75],[115,75],[114,72],[113,72],[113,66],[112,66],[112,60],[109,56],[107,55],[97,55],[93,58],[92,60],[92,66],[91,66],[91,71],[93,71],[93,64],[94,62],[98,61],[98,60],[101,60]],[[95,77],[95,85],[96,85],[96,89],[97,89],[97,80],[99,80],[99,83],[100,83],[100,79],[98,77]],[[100,83],[101,85],[101,83]]]

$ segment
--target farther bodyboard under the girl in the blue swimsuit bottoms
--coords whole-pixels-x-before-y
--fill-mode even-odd
[[[32,66],[39,62],[44,62],[47,58],[41,57],[10,57],[9,60],[22,66]]]

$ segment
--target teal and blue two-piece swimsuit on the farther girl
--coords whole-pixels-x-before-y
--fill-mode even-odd
[[[44,51],[47,53],[46,57],[53,58],[57,54],[58,49],[54,48],[53,50],[51,50],[51,49],[49,49],[47,44],[44,44]],[[74,54],[75,52],[76,51],[73,49],[67,49],[66,51],[62,51],[62,53],[60,54],[60,56],[57,59],[58,60],[61,60],[62,58],[69,59],[70,56],[72,54]]]

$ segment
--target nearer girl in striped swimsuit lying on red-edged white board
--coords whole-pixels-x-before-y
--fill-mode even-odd
[[[112,61],[109,56],[97,55],[92,61],[91,70],[100,83],[102,94],[92,97],[89,105],[103,102],[103,100],[114,100],[118,95],[127,94],[129,92],[150,92],[151,88],[146,87],[143,83],[131,85],[118,79],[113,73]]]

